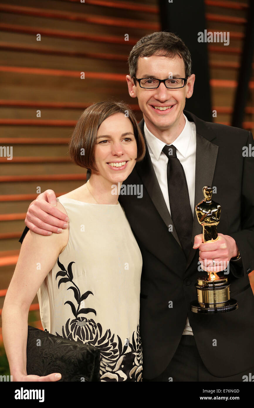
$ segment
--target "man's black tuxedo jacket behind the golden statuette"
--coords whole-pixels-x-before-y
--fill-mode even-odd
[[[216,186],[212,199],[221,204],[218,232],[232,236],[241,252],[240,266],[230,262],[230,296],[239,308],[219,315],[190,311],[197,300],[199,249],[188,260],[181,248],[164,201],[148,149],[123,184],[142,184],[143,197],[120,195],[126,217],[142,253],[140,333],[143,376],[160,375],[172,359],[188,315],[199,354],[208,371],[228,377],[254,366],[254,296],[248,273],[254,269],[254,159],[243,157],[243,146],[253,144],[250,132],[204,122],[187,111],[196,125],[195,205],[203,199],[203,186]],[[144,119],[139,123],[144,134]],[[127,190],[128,191],[128,190]],[[28,228],[26,227],[20,242]],[[194,212],[194,236],[202,233]],[[172,302],[169,307],[169,302]],[[216,342],[214,341],[216,340]],[[216,344],[216,345],[215,345]]]

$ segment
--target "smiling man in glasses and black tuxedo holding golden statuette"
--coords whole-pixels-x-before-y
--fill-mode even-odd
[[[143,381],[243,381],[254,373],[254,296],[247,276],[254,269],[254,160],[243,157],[252,134],[183,111],[195,75],[176,35],[146,35],[128,63],[128,91],[144,116],[139,126],[146,156],[123,186],[144,189],[142,199],[120,195],[119,201],[143,257]],[[221,205],[219,239],[208,243],[194,212],[204,186],[212,186]],[[49,190],[30,204],[26,224],[32,231],[61,232],[66,215],[54,203]],[[200,266],[227,274],[237,310],[192,313],[194,285],[205,275]]]

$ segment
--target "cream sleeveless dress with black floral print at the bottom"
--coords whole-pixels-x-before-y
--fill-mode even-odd
[[[38,290],[43,329],[100,349],[100,381],[142,381],[142,256],[119,204],[57,198],[69,217],[64,251]]]

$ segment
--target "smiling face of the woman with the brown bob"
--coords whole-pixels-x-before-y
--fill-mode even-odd
[[[94,150],[99,174],[113,184],[126,180],[137,159],[133,125],[124,113],[106,118],[97,131]]]

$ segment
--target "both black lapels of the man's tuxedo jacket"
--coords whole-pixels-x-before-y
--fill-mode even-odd
[[[187,119],[191,122],[194,122],[196,125],[195,207],[203,199],[203,186],[212,186],[219,147],[216,144],[211,143],[211,140],[215,139],[216,135],[210,128],[208,122],[204,122],[188,111],[183,112],[186,115]],[[144,118],[139,122],[139,127],[144,135]],[[136,163],[135,169],[137,170],[137,173],[139,173],[139,176],[141,177],[141,180],[143,181],[153,204],[155,205],[167,228],[169,227],[169,225],[172,225],[172,235],[181,247],[179,237],[177,235],[176,229],[174,228],[172,218],[170,217],[168,207],[166,206],[166,202],[164,200],[159,182],[155,174],[155,170],[152,165],[147,144],[144,160]],[[202,227],[197,221],[197,216],[194,208],[192,246],[194,244],[195,235],[198,235],[200,233],[202,233]],[[192,262],[196,251],[197,249],[191,248],[187,260],[186,269]]]

